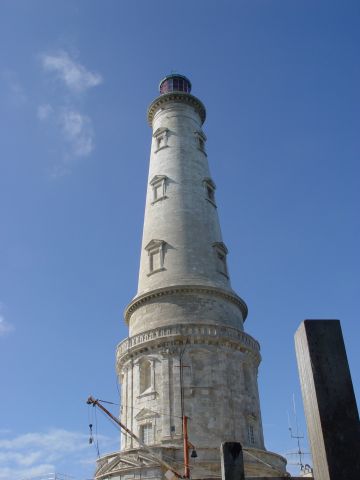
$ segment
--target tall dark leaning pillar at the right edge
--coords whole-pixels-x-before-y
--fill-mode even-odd
[[[295,334],[315,480],[360,479],[360,423],[339,320],[305,320]]]

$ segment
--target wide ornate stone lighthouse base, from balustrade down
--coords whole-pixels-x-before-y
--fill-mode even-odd
[[[122,422],[182,474],[186,415],[197,452],[190,463],[192,479],[221,477],[223,441],[243,445],[247,477],[285,476],[286,460],[264,449],[260,358],[255,339],[224,324],[168,324],[133,335],[117,349]],[[164,474],[151,455],[124,436],[121,452],[98,461],[95,478],[160,480]]]

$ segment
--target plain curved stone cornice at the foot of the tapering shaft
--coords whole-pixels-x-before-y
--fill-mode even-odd
[[[154,300],[155,298],[163,297],[166,295],[174,294],[189,294],[189,293],[199,293],[205,295],[212,295],[229,300],[229,302],[237,305],[242,313],[243,322],[245,322],[248,309],[244,300],[238,297],[235,293],[230,293],[227,290],[222,290],[217,287],[203,286],[203,285],[176,285],[170,287],[158,288],[156,290],[151,290],[150,292],[143,293],[134,298],[134,300],[126,307],[124,312],[125,321],[129,324],[131,315],[139,307],[143,306],[147,302]]]

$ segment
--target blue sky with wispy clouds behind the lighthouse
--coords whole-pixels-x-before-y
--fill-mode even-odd
[[[92,393],[118,402],[151,131],[171,70],[204,127],[233,288],[260,341],[268,449],[295,449],[293,335],[342,322],[359,380],[357,1],[16,1],[0,5],[0,479],[90,478]],[[117,407],[114,407],[115,411]],[[101,453],[118,432],[98,418]]]

